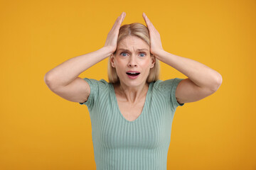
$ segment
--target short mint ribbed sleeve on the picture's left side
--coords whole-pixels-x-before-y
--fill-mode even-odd
[[[95,101],[97,101],[97,98],[99,97],[100,89],[102,89],[102,87],[106,86],[108,83],[104,79],[97,81],[96,79],[84,78],[84,80],[87,81],[90,86],[90,95],[87,98],[87,101],[80,103],[80,105],[85,104],[88,108],[92,108]]]

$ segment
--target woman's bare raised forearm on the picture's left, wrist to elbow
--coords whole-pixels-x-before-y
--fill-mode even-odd
[[[66,86],[86,69],[92,67],[92,65],[97,62],[104,60],[111,54],[112,52],[107,47],[102,47],[95,52],[73,57],[47,72],[45,80],[48,84]]]

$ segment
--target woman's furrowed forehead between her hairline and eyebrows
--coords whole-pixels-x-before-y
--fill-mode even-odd
[[[119,48],[127,50],[146,48],[149,50],[149,45],[141,38],[137,38],[136,36],[127,36],[118,43],[117,50],[119,50]]]

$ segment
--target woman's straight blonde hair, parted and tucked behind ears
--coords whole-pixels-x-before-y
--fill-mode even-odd
[[[130,23],[130,24],[121,26],[119,29],[117,44],[129,35],[133,35],[133,36],[137,36],[138,38],[141,38],[150,47],[149,29],[146,26],[144,26],[142,23]],[[112,55],[116,55],[116,52],[117,51],[115,51]],[[120,82],[119,77],[117,76],[116,69],[112,67],[110,62],[112,55],[110,55],[109,61],[107,64],[107,75],[110,83],[118,84]],[[152,54],[150,54],[150,56],[154,58],[156,62],[154,63],[154,67],[152,67],[149,71],[149,76],[146,78],[146,83],[157,81],[159,79],[159,72],[160,72],[159,60],[157,60],[156,57]]]

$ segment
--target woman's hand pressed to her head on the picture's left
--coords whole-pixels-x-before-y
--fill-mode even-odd
[[[117,50],[117,38],[119,35],[119,28],[122,24],[122,21],[124,21],[125,15],[126,13],[122,12],[122,14],[114,22],[114,26],[112,26],[110,33],[107,34],[107,40],[105,42],[104,47],[107,47],[108,49],[110,49],[112,53],[114,53],[115,50]]]

